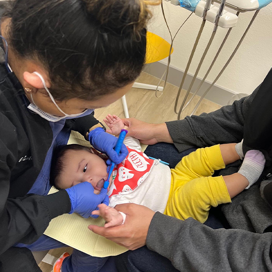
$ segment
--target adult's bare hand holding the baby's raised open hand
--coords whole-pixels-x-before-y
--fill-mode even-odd
[[[139,139],[145,145],[155,145],[159,142],[173,143],[166,123],[151,124],[135,118],[122,119],[127,128],[127,136]]]

